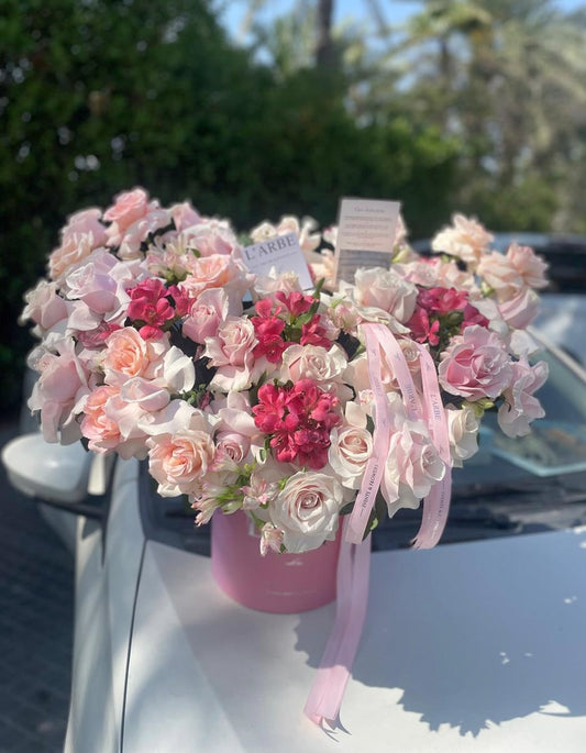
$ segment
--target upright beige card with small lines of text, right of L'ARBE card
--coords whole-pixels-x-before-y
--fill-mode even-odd
[[[388,269],[395,246],[400,203],[378,199],[342,199],[335,250],[336,279],[354,281],[360,267]]]

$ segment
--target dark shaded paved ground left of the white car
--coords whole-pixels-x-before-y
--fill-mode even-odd
[[[0,422],[0,446],[16,433]],[[0,753],[58,753],[69,705],[74,561],[0,469]]]

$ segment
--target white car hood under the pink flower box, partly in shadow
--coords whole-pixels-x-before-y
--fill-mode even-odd
[[[583,751],[586,529],[377,552],[341,722],[302,708],[334,606],[266,614],[150,542],[123,750]]]

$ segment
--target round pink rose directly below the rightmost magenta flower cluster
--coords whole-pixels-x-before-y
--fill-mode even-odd
[[[484,326],[467,326],[440,356],[438,376],[451,395],[495,399],[511,384],[512,366],[502,340]]]

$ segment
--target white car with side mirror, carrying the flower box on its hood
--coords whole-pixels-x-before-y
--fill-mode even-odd
[[[586,375],[563,353],[544,357],[548,418],[522,440],[483,429],[455,474],[444,543],[410,551],[409,510],[375,533],[334,730],[302,713],[334,605],[241,607],[212,579],[207,529],[180,499],[156,496],[144,464],[119,461],[110,475],[78,445],[36,434],[9,444],[21,490],[78,512],[65,750],[582,753]]]

